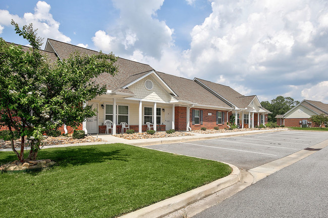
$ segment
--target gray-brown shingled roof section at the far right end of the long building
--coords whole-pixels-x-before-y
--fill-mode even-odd
[[[195,78],[200,81],[202,84],[207,86],[209,89],[213,90],[217,94],[221,95],[223,98],[234,104],[239,108],[247,108],[248,105],[252,102],[255,95],[244,96],[238,93],[236,90],[230,88],[229,86],[224,86],[221,84],[209,82],[206,80]]]

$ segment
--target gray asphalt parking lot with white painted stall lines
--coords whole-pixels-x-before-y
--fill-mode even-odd
[[[326,131],[278,131],[157,144],[147,148],[233,164],[249,170],[328,139]]]

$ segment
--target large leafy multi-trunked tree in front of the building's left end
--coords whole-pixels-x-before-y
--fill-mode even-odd
[[[74,53],[51,63],[40,51],[42,39],[32,24],[22,29],[14,21],[12,25],[31,48],[0,38],[0,126],[8,127],[12,149],[24,162],[26,143],[31,147],[27,160],[35,160],[45,132],[63,124],[76,127],[95,115],[96,110],[83,103],[105,93],[105,86],[92,80],[103,72],[114,76],[117,58],[112,53]],[[21,136],[20,153],[14,148],[15,135]]]

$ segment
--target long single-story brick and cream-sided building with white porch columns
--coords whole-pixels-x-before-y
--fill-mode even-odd
[[[44,50],[51,60],[66,59],[75,51],[97,53],[53,39],[47,39]],[[98,111],[81,124],[88,134],[105,133],[105,120],[113,121],[113,134],[121,131],[121,122],[137,132],[146,130],[146,122],[153,123],[157,131],[225,128],[232,114],[242,128],[267,123],[270,112],[261,106],[256,95],[244,96],[221,84],[165,74],[148,64],[120,57],[115,64],[117,75],[102,74],[95,78],[97,84],[106,85],[107,92],[86,103]],[[72,131],[67,126],[61,130]]]

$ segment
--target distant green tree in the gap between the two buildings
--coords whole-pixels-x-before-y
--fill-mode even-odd
[[[271,102],[262,101],[261,105],[272,112],[267,116],[268,122],[277,122],[277,119],[275,118],[277,114],[284,114],[299,103],[299,101],[295,101],[291,97],[277,96],[277,98],[272,99]]]

